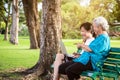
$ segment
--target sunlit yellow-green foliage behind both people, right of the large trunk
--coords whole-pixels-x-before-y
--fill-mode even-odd
[[[63,38],[81,38],[79,26],[83,22],[92,22],[93,18],[104,16],[113,23],[115,0],[91,0],[89,6],[81,6],[79,0],[62,0]]]

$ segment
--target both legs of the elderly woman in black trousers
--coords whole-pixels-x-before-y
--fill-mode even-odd
[[[61,64],[59,67],[59,73],[66,74],[69,80],[79,79],[80,74],[86,70],[92,70],[92,65],[90,61],[87,65],[83,65],[82,63],[76,62],[69,62]]]

